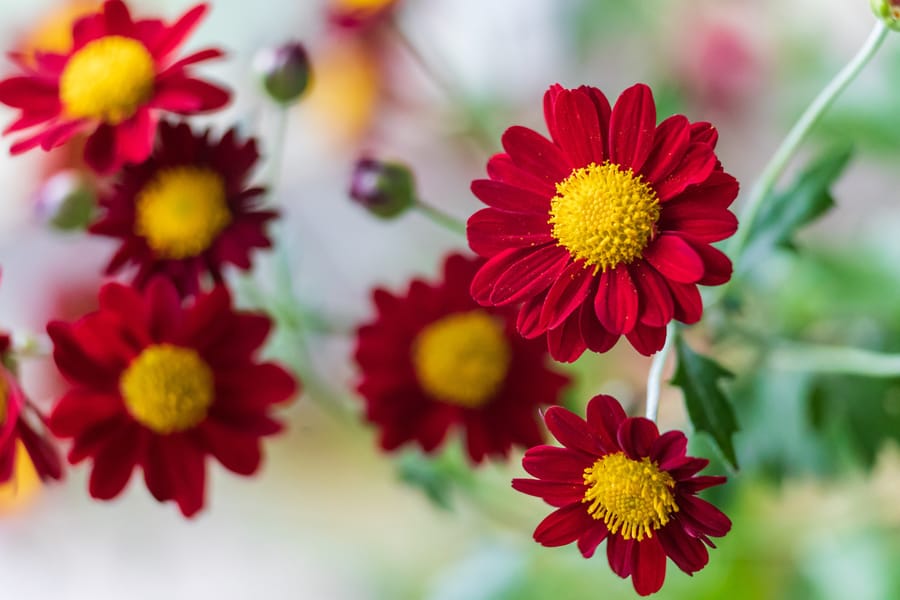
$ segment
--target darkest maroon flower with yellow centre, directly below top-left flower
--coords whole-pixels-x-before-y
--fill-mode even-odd
[[[224,264],[249,269],[250,251],[271,246],[265,228],[277,216],[258,209],[264,190],[248,184],[258,158],[256,142],[233,129],[211,140],[162,123],[150,158],[126,166],[100,200],[106,213],[90,231],[122,240],[107,273],[133,263],[136,286],[162,274],[192,294],[206,273],[221,282]]]

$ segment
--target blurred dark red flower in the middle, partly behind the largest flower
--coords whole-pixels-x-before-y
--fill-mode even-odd
[[[454,254],[435,285],[374,291],[378,316],[358,333],[357,389],[384,449],[415,441],[431,452],[454,426],[476,463],[541,442],[537,408],[555,404],[568,378],[547,367],[543,344],[516,334],[513,309],[472,301],[482,263]]]

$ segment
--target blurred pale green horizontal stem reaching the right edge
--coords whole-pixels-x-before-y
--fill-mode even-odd
[[[767,362],[782,371],[900,377],[900,354],[846,346],[784,344],[769,353]]]

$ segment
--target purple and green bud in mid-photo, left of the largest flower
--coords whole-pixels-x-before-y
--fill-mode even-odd
[[[378,217],[396,217],[415,203],[413,174],[400,163],[362,158],[353,169],[350,197]]]

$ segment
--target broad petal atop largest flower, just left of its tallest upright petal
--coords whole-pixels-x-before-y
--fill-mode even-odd
[[[590,97],[581,90],[562,90],[553,113],[554,139],[568,155],[569,165],[578,168],[601,164],[605,158],[603,134]]]

